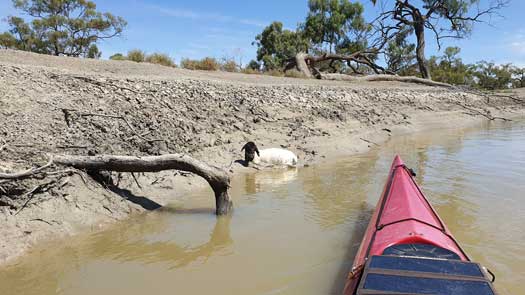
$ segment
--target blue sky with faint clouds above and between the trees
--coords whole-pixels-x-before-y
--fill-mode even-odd
[[[393,1],[393,0],[390,0]],[[481,0],[487,3],[490,0]],[[365,4],[365,15],[372,19],[377,8]],[[103,57],[140,48],[146,52],[164,52],[180,61],[183,57],[217,58],[237,56],[247,63],[255,57],[251,43],[265,25],[274,20],[295,28],[307,14],[307,0],[95,0],[101,11],[109,11],[128,21],[124,35],[102,42]],[[462,48],[466,62],[489,60],[512,62],[525,66],[525,1],[512,0],[491,24],[476,24],[470,38],[447,40],[445,46]],[[0,31],[7,29],[5,17],[16,15],[11,0],[0,0]],[[430,37],[430,32],[428,33]],[[427,55],[435,55],[437,47],[428,39]]]

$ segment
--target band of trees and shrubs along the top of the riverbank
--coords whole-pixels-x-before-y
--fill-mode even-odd
[[[470,36],[474,24],[497,15],[507,3],[394,1],[366,20],[360,2],[309,0],[308,13],[295,29],[274,21],[255,36],[252,45],[257,47],[257,56],[247,65],[236,57],[183,58],[179,65],[189,70],[319,79],[387,74],[392,79],[415,76],[479,89],[519,88],[525,86],[525,68],[484,60],[464,63],[459,47],[447,47],[429,58],[425,52],[429,38],[441,50],[444,40]],[[10,29],[0,34],[0,48],[100,58],[97,43],[120,36],[126,27],[123,18],[98,11],[93,1],[13,0],[13,5],[30,18],[9,16]],[[110,59],[177,66],[168,54],[140,49],[127,55],[116,53]]]

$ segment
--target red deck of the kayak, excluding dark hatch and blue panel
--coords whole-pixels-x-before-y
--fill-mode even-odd
[[[344,294],[354,294],[369,257],[382,255],[386,249],[404,244],[436,246],[445,249],[455,259],[469,261],[416,184],[413,172],[396,156],[355,256]]]

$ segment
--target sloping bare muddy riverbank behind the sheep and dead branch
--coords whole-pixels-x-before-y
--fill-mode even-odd
[[[519,94],[515,97],[523,99]],[[523,103],[413,84],[316,81],[172,69],[0,50],[0,172],[52,154],[187,153],[242,173],[248,140],[296,152],[302,165],[416,130],[523,114]],[[97,230],[204,186],[176,171],[0,180],[0,262],[50,237]],[[139,187],[140,186],[140,187]],[[234,199],[235,204],[235,199]],[[214,202],[210,193],[209,207]]]

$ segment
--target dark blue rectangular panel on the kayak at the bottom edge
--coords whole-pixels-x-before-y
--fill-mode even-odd
[[[495,295],[477,263],[424,257],[372,256],[357,295]]]

